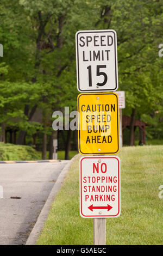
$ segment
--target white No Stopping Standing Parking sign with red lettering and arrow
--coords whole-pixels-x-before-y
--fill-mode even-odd
[[[120,162],[118,156],[80,158],[80,216],[84,218],[120,216]]]

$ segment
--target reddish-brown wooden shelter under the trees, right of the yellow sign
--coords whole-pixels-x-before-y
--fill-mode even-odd
[[[123,117],[122,117],[122,131],[125,128],[130,129],[130,124],[131,124],[131,118],[128,117],[127,115],[123,115]],[[143,141],[143,144],[146,144],[146,126],[149,126],[149,124],[147,124],[145,122],[142,122],[140,120],[135,120],[134,131],[135,131],[137,126],[140,127],[140,129],[142,130],[142,132],[143,132],[142,141]],[[134,136],[134,144],[135,144],[135,136]]]

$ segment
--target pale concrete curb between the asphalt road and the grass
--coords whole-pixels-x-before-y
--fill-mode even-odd
[[[70,162],[68,162],[66,164],[66,166],[62,169],[57,181],[55,182],[51,192],[49,193],[46,203],[43,206],[43,208],[40,212],[40,215],[37,218],[32,231],[30,232],[30,235],[28,236],[28,239],[27,239],[25,245],[35,245],[37,239],[39,239],[40,233],[43,229],[43,225],[44,225],[45,221],[47,220],[47,216],[49,214],[49,210],[51,209],[51,205],[55,199],[55,196],[57,195],[58,191],[60,190],[60,188],[62,186],[62,182],[64,181],[64,178],[65,178],[65,175],[68,172],[68,170],[70,169],[72,162],[74,161],[74,159],[76,159],[77,156],[78,156],[78,154],[75,155],[70,160]]]

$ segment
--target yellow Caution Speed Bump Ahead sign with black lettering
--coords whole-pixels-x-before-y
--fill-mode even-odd
[[[116,154],[119,150],[118,96],[78,95],[78,142],[82,155]]]

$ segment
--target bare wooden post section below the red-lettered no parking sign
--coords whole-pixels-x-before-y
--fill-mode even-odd
[[[106,218],[93,218],[94,245],[106,245]]]

